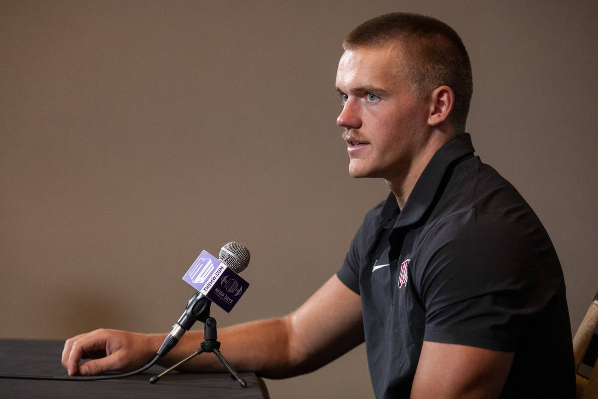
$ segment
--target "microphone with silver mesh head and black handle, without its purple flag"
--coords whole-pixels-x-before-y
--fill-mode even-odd
[[[218,255],[218,260],[225,264],[229,269],[235,273],[240,273],[249,264],[251,254],[245,246],[238,242],[231,241],[222,246]],[[209,317],[210,304],[212,301],[208,299],[203,293],[197,293],[191,297],[187,303],[185,311],[182,313],[179,320],[172,326],[172,331],[166,336],[162,346],[158,350],[158,356],[163,357],[170,349],[174,348],[179,342],[183,334],[190,330],[196,321],[206,322]]]

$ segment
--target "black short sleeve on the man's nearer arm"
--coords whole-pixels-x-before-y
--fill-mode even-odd
[[[424,340],[515,351],[524,320],[557,291],[530,234],[517,220],[475,209],[433,230],[415,276]]]

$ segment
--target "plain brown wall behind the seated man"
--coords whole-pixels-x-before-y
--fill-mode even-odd
[[[230,240],[252,285],[221,326],[299,306],[386,196],[346,172],[334,77],[343,36],[396,10],[462,36],[468,131],[551,234],[575,331],[598,290],[596,2],[3,1],[0,337],[169,331],[183,273]],[[373,396],[363,346],[267,385]]]

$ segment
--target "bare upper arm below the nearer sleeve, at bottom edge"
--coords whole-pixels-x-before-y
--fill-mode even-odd
[[[411,399],[498,398],[514,354],[424,341]]]

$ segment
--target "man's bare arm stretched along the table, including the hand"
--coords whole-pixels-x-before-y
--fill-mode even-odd
[[[135,370],[155,356],[165,336],[91,331],[66,340],[62,365],[69,375]],[[187,357],[202,340],[203,331],[188,332],[160,364],[169,366]],[[222,328],[218,340],[237,371],[255,371],[270,378],[307,373],[364,341],[361,299],[334,275],[290,315]],[[103,357],[78,365],[81,358],[98,353]],[[213,356],[198,356],[184,369],[224,371]]]

